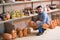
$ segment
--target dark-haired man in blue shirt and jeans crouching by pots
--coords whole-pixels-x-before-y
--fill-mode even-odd
[[[42,27],[42,25],[44,23],[49,25],[50,24],[50,18],[48,16],[48,14],[43,11],[42,6],[38,6],[36,9],[38,10],[38,15],[37,15],[37,18],[35,18],[35,19],[33,18],[33,21],[38,24],[39,33],[37,35],[40,35],[40,34],[43,34],[43,32],[46,30]]]

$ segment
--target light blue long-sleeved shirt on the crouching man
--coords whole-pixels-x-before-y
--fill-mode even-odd
[[[43,24],[43,23],[46,23],[46,24],[50,24],[50,18],[49,18],[49,16],[48,16],[48,14],[46,13],[46,12],[40,12],[40,13],[38,13],[38,15],[37,15],[37,18],[33,18],[33,21],[38,21],[40,18],[42,18],[42,21],[41,21],[41,25]]]

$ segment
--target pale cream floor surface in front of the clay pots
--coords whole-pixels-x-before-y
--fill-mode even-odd
[[[60,27],[47,29],[43,35],[16,38],[15,40],[60,40]]]

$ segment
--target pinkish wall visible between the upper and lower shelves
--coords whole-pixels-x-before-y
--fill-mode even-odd
[[[33,3],[33,8],[36,8],[38,5],[47,5],[47,4],[51,4],[51,2],[34,2]],[[59,1],[54,1],[53,4],[57,4],[60,5]],[[25,7],[32,7],[31,3],[22,3],[22,4],[14,4],[11,8],[11,5],[5,6],[5,11],[11,11],[12,10],[22,10]],[[2,6],[0,6],[0,13],[2,13]]]

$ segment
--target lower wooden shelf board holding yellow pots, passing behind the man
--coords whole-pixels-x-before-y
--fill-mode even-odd
[[[50,10],[48,11],[47,13],[52,13],[52,12],[57,12],[57,11],[60,11],[60,9],[54,9],[54,10]],[[32,16],[37,16],[38,14],[35,13],[35,14],[30,14],[30,16],[24,16],[24,17],[21,17],[21,18],[15,18],[15,19],[10,19],[10,20],[6,20],[6,21],[0,21],[0,24],[1,23],[5,23],[5,22],[10,22],[10,21],[14,21],[14,20],[18,20],[18,19],[24,19],[24,18],[29,18],[29,17],[32,17]]]

